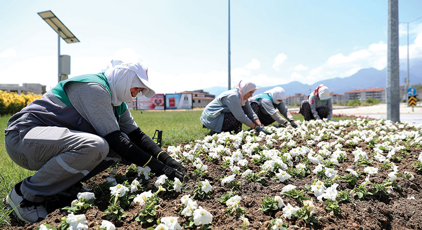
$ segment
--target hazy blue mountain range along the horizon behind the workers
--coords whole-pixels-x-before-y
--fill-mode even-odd
[[[399,76],[400,85],[405,85],[404,79],[407,78],[407,60],[401,59],[399,63]],[[414,58],[409,61],[409,72],[410,72],[410,85],[422,83],[422,58]],[[284,88],[287,96],[294,95],[296,93],[308,95],[310,91],[314,90],[318,85],[326,85],[332,93],[343,94],[353,89],[369,89],[372,87],[383,87],[387,85],[387,67],[383,70],[377,70],[376,68],[362,68],[355,74],[349,77],[336,77],[331,79],[325,79],[322,81],[315,82],[314,84],[303,84],[298,81],[292,81],[287,84],[273,85],[259,87],[256,94],[263,93],[264,91],[280,86]],[[233,87],[234,88],[234,87]],[[204,91],[209,92],[212,95],[219,95],[227,90],[227,87],[213,86],[204,88]]]

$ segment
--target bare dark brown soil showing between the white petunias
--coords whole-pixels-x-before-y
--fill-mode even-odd
[[[346,133],[360,129],[360,127],[351,126],[346,127]],[[405,127],[406,130],[411,130],[412,128]],[[402,131],[404,129],[398,129],[395,132]],[[414,130],[414,129],[413,129]],[[421,130],[417,130],[419,133]],[[345,131],[342,131],[345,132]],[[305,145],[306,140],[301,140],[297,138],[297,136],[293,137],[298,143],[298,146]],[[324,140],[325,142],[331,142],[333,140]],[[264,145],[265,142],[262,143]],[[274,146],[276,149],[281,149],[277,146],[280,146],[281,141],[278,141]],[[394,145],[401,144],[394,143]],[[403,143],[402,143],[403,144]],[[361,173],[363,172],[363,168],[361,166],[353,165],[353,154],[351,151],[354,150],[354,147],[346,146],[343,143],[343,149],[347,152],[347,160],[341,163],[340,167],[336,170],[339,171],[340,175],[347,174],[346,169],[352,168],[354,170],[359,170]],[[364,151],[369,153],[372,152],[371,148],[367,147],[367,144],[362,142],[358,145]],[[313,147],[315,151],[318,151],[318,147]],[[314,225],[306,224],[302,219],[292,218],[291,220],[287,220],[282,217],[283,222],[287,223],[289,229],[422,229],[422,175],[420,172],[414,170],[411,166],[413,163],[416,162],[417,156],[419,153],[422,152],[420,146],[411,146],[409,147],[409,152],[407,153],[396,153],[397,157],[404,157],[403,160],[399,163],[395,163],[398,166],[399,173],[403,173],[404,171],[412,172],[415,176],[413,180],[408,180],[406,178],[397,176],[397,183],[401,186],[402,191],[393,190],[393,192],[389,196],[369,196],[366,199],[358,199],[356,198],[356,203],[353,204],[351,202],[339,201],[341,214],[335,215],[332,212],[329,212],[325,209],[325,206],[319,202],[316,197],[313,195],[312,192],[306,192],[306,197],[312,198],[314,204],[317,206],[317,210],[314,213],[314,216],[321,217],[318,223]],[[249,159],[248,156],[244,156],[245,158]],[[230,190],[226,187],[221,186],[220,178],[231,175],[232,172],[228,168],[222,168],[221,165],[223,162],[221,160],[215,160],[213,162],[209,162],[206,159],[206,155],[202,155],[200,157],[204,164],[208,166],[208,172],[205,176],[196,177],[195,175],[190,174],[190,180],[188,181],[189,190],[193,191],[196,186],[197,181],[208,179],[213,186],[212,189],[212,196],[210,199],[195,199],[198,203],[198,206],[202,206],[205,210],[209,211],[213,215],[213,221],[211,224],[212,229],[241,229],[242,221],[239,220],[238,217],[227,216],[225,211],[225,204],[221,204],[217,201],[217,198],[220,198],[222,195],[230,192]],[[372,175],[370,180],[372,182],[379,182],[388,179],[387,174],[392,170],[383,170],[379,167],[378,162],[372,157],[373,159],[373,166],[379,168],[379,173],[376,175]],[[295,163],[296,164],[296,163]],[[193,172],[194,167],[192,164],[185,164],[186,168],[189,172]],[[259,171],[259,166],[255,166],[252,164],[250,160],[248,163],[250,169],[254,172]],[[118,168],[118,173],[124,174],[125,170],[128,166],[121,165]],[[311,171],[315,168],[315,165],[311,166]],[[240,172],[243,172],[244,169],[241,169]],[[94,177],[92,180],[85,183],[85,186],[94,189],[95,191],[95,206],[89,209],[86,213],[86,219],[88,220],[88,226],[90,229],[97,229],[97,226],[101,224],[103,219],[102,215],[104,210],[107,209],[109,205],[109,191],[105,191],[102,193],[99,191],[98,187],[96,187],[99,183],[104,182],[105,178],[108,176],[108,172],[102,172],[101,174]],[[266,177],[266,182],[262,185],[261,183],[257,182],[249,182],[245,179],[241,178],[240,175],[236,176],[236,180],[240,182],[239,190],[231,191],[233,193],[238,194],[241,196],[240,205],[246,208],[245,216],[249,218],[250,225],[248,229],[267,229],[269,222],[274,219],[275,217],[282,216],[282,211],[279,210],[277,213],[273,215],[269,215],[263,213],[259,210],[261,207],[261,202],[266,195],[274,197],[276,195],[281,196],[284,202],[291,203],[293,206],[301,207],[302,204],[297,202],[296,200],[283,196],[280,194],[281,188],[287,184],[292,184],[297,186],[297,189],[304,189],[304,186],[307,184],[311,184],[314,182],[316,175],[313,173],[307,174],[303,179],[291,178],[290,180],[284,181],[280,183],[278,180],[272,180],[271,177],[274,176],[274,173],[270,174]],[[129,177],[129,183],[135,177]],[[149,182],[148,189],[155,190],[153,183],[155,181],[155,177],[152,178]],[[364,181],[364,176],[359,179],[358,185],[360,185]],[[121,181],[118,181],[121,182]],[[336,180],[339,183],[339,187],[337,190],[345,190],[350,191],[352,187],[348,185],[345,180]],[[369,187],[370,188],[370,187]],[[138,191],[141,193],[142,191]],[[192,193],[192,192],[191,192]],[[182,193],[164,193],[160,194],[161,203],[160,208],[157,209],[157,219],[166,216],[174,216],[179,217],[179,223],[183,225],[187,221],[187,218],[179,215],[179,211],[182,208],[180,199],[183,195],[188,194],[188,192]],[[409,199],[410,197],[414,197],[414,199]],[[63,216],[68,215],[66,211],[61,210],[63,206],[70,205],[72,199],[63,199],[60,197],[53,197],[48,201],[48,209],[51,213],[47,216],[47,218],[39,223],[35,224],[26,224],[22,225],[17,222],[13,217],[11,218],[12,226],[3,226],[5,229],[19,229],[19,230],[27,230],[27,229],[36,229],[41,223],[49,223],[53,227],[57,227],[57,225],[61,222],[61,218]],[[117,229],[145,229],[146,227],[156,227],[157,224],[151,225],[141,225],[139,222],[135,221],[138,213],[143,209],[138,204],[132,202],[125,212],[127,216],[123,218],[121,221],[114,221]],[[1,227],[0,227],[1,228]]]

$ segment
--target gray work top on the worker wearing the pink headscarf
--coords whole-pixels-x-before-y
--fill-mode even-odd
[[[202,124],[215,132],[221,132],[223,128],[224,114],[233,113],[233,116],[241,123],[249,126],[258,116],[252,111],[247,101],[244,106],[240,105],[240,96],[237,89],[224,91],[217,98],[212,100],[201,114]]]

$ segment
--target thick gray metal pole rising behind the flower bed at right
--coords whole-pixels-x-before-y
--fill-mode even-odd
[[[398,0],[388,0],[387,120],[400,122],[398,63]]]

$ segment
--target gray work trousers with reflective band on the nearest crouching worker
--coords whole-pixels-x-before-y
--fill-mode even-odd
[[[33,202],[86,181],[119,159],[102,137],[62,127],[36,126],[24,136],[19,130],[6,131],[5,147],[17,165],[38,170],[20,186],[24,197]]]

